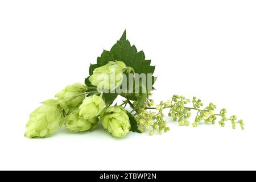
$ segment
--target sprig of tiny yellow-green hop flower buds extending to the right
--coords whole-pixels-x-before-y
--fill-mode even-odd
[[[148,96],[151,95],[148,94]],[[170,130],[170,127],[167,127],[168,118],[165,117],[164,110],[167,110],[168,117],[171,117],[175,122],[179,122],[180,126],[189,126],[189,118],[191,118],[192,111],[195,111],[196,117],[192,123],[193,127],[197,127],[200,122],[214,125],[219,118],[218,123],[221,127],[225,126],[226,121],[230,121],[233,129],[236,129],[236,124],[239,124],[241,129],[244,130],[242,119],[237,121],[236,115],[227,118],[226,109],[221,109],[220,113],[215,113],[217,107],[212,103],[203,108],[203,103],[196,97],[193,97],[191,102],[190,99],[184,96],[174,95],[171,100],[167,102],[161,101],[159,105],[152,107],[154,105],[155,102],[147,97],[146,102],[134,114],[138,128],[142,133],[150,130],[150,135],[153,135],[154,133],[162,134]],[[156,110],[157,112],[152,112],[151,110]]]

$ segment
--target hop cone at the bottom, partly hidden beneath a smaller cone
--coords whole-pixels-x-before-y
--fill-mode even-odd
[[[73,113],[65,117],[65,127],[74,133],[81,131],[93,130],[98,124],[98,118],[84,119],[79,116],[79,110],[73,111]]]

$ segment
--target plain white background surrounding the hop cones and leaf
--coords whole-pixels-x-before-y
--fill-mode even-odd
[[[255,1],[1,1],[0,169],[256,169]],[[39,102],[73,82],[123,30],[156,65],[156,101],[199,96],[246,130],[170,122],[115,139],[101,127],[23,137]]]

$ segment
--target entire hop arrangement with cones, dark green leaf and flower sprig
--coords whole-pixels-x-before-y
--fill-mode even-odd
[[[62,126],[73,133],[91,131],[99,123],[113,137],[125,137],[130,131],[162,134],[170,130],[167,126],[170,118],[180,126],[189,126],[192,111],[196,113],[194,127],[218,121],[222,127],[231,122],[233,129],[237,124],[244,129],[243,121],[238,121],[236,115],[227,117],[226,109],[216,113],[214,104],[203,107],[196,97],[189,100],[174,95],[171,100],[155,105],[151,98],[156,81],[154,71],[151,60],[131,46],[126,31],[123,32],[110,51],[104,50],[97,63],[90,64],[84,84],[66,86],[55,99],[42,102],[31,113],[25,136],[45,138]],[[117,96],[125,98],[121,105],[113,105]],[[165,115],[167,111],[169,118]]]

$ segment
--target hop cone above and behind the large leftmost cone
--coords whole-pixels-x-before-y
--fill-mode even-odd
[[[88,90],[86,85],[75,83],[73,85],[66,86],[66,88],[60,93],[57,93],[55,97],[60,101],[60,106],[63,107],[65,111],[69,111],[71,107],[77,107],[82,103],[85,98],[85,94],[81,94],[85,93],[86,90]]]

